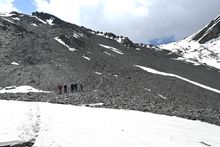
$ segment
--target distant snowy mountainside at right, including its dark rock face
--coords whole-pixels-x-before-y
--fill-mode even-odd
[[[180,55],[176,60],[220,69],[220,16],[192,36],[160,48]]]

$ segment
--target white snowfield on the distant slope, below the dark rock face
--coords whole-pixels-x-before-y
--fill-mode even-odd
[[[175,60],[191,62],[195,65],[205,64],[220,69],[220,37],[205,44],[200,44],[191,38],[192,36],[179,42],[161,45],[160,48],[181,56]]]

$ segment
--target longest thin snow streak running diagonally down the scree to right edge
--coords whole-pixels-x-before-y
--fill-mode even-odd
[[[181,76],[178,76],[178,75],[175,75],[175,74],[172,74],[172,73],[165,73],[165,72],[157,71],[155,69],[144,67],[144,66],[139,66],[139,65],[134,65],[134,66],[136,66],[138,68],[141,68],[141,69],[143,69],[143,70],[145,70],[145,71],[147,71],[149,73],[158,74],[158,75],[162,75],[162,76],[168,76],[168,77],[175,77],[175,78],[181,79],[183,81],[186,81],[188,83],[191,83],[193,85],[199,86],[199,87],[201,87],[203,89],[207,89],[207,90],[210,90],[210,91],[213,91],[213,92],[216,92],[216,93],[220,93],[220,90],[218,90],[218,89],[215,89],[215,88],[212,88],[212,87],[209,87],[209,86],[206,86],[206,85],[203,85],[203,84],[191,81],[189,79],[183,78]]]

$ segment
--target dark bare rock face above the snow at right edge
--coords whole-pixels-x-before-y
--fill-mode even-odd
[[[220,16],[212,20],[206,27],[193,37],[192,40],[203,44],[220,36]]]

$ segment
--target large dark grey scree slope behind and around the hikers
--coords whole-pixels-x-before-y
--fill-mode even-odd
[[[0,33],[0,87],[28,85],[54,92],[1,94],[1,99],[102,102],[103,107],[220,124],[220,94],[204,88],[220,89],[217,69],[179,62],[170,51],[70,24],[47,13],[1,15]],[[154,74],[137,65],[177,76]],[[58,84],[71,83],[81,83],[84,92],[58,95]]]

